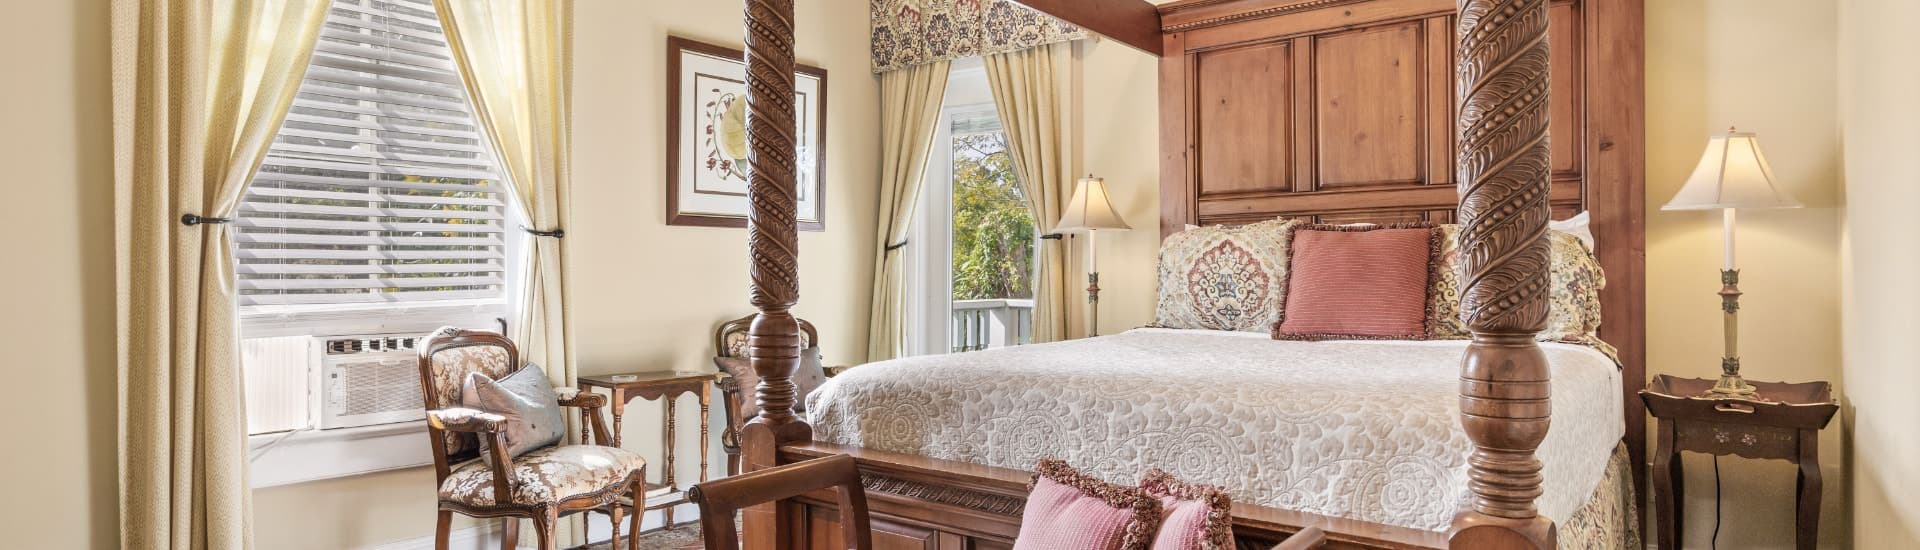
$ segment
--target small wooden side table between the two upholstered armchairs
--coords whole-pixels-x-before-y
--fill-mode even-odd
[[[607,392],[612,394],[607,402],[611,404],[612,410],[614,446],[620,446],[620,417],[626,415],[628,400],[632,398],[666,400],[666,469],[660,473],[659,487],[664,487],[666,494],[672,494],[674,498],[645,506],[645,510],[660,510],[660,513],[666,519],[666,527],[674,525],[674,506],[685,504],[685,494],[674,481],[674,398],[678,398],[680,394],[697,394],[701,398],[701,481],[707,481],[707,454],[708,454],[707,412],[712,406],[714,375],[716,373],[655,371],[655,373],[580,377],[582,392],[588,392],[591,388],[605,388]],[[584,431],[586,423],[582,423],[582,440],[586,440]],[[651,488],[655,487],[649,487],[647,492],[653,492]]]

